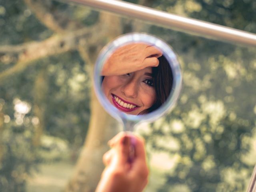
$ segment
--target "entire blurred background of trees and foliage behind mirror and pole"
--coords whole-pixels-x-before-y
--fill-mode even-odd
[[[256,33],[255,0],[127,0]],[[256,48],[53,0],[0,0],[0,191],[92,192],[122,128],[98,104],[92,70],[120,34],[179,55],[183,89],[146,139],[145,192],[246,191],[256,163]]]

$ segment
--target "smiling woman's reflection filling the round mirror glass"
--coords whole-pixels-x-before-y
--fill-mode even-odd
[[[116,49],[102,68],[102,91],[118,110],[148,114],[167,100],[172,70],[162,50],[146,43]]]

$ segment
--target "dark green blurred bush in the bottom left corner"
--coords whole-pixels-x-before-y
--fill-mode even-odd
[[[0,191],[24,192],[26,179],[36,170],[39,158],[32,145],[33,126],[17,126],[12,120],[0,134]]]

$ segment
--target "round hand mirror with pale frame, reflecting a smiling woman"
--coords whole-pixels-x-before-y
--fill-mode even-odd
[[[106,111],[133,131],[172,109],[181,90],[176,54],[155,36],[131,33],[107,44],[96,60],[94,88]]]

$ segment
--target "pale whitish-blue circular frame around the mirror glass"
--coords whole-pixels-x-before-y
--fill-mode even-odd
[[[145,43],[149,45],[154,45],[160,50],[162,50],[163,55],[166,57],[166,60],[169,62],[171,70],[172,70],[172,90],[166,100],[166,102],[160,106],[158,109],[150,112],[149,114],[143,115],[130,115],[125,112],[121,112],[116,107],[114,107],[103,94],[101,89],[102,84],[102,68],[106,60],[114,53],[117,48],[124,46],[126,44],[131,43]],[[182,88],[182,75],[180,71],[180,64],[178,62],[178,58],[172,48],[166,44],[163,40],[149,35],[145,33],[129,33],[119,36],[112,42],[108,43],[101,50],[94,67],[94,90],[96,92],[96,96],[98,100],[105,108],[105,110],[114,118],[119,120],[120,122],[131,121],[135,124],[138,122],[144,121],[154,121],[160,116],[164,115],[166,112],[171,110],[177,102],[178,96],[180,94]],[[107,101],[107,102],[106,102]]]

